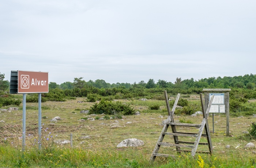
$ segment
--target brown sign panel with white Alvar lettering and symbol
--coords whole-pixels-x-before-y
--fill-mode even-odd
[[[18,93],[48,92],[48,72],[18,70]]]

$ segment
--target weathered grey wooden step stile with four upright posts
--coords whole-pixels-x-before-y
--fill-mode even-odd
[[[167,118],[167,122],[165,123],[165,125],[163,126],[162,132],[158,138],[157,144],[155,145],[155,148],[153,150],[153,153],[150,157],[150,161],[154,161],[155,158],[157,156],[159,157],[175,157],[174,155],[170,155],[170,154],[162,154],[162,153],[158,153],[159,149],[161,146],[175,146],[176,147],[176,151],[177,153],[181,153],[181,152],[191,152],[191,156],[195,156],[196,153],[209,153],[212,154],[212,143],[211,143],[211,136],[210,136],[210,129],[208,126],[208,121],[207,121],[207,117],[211,108],[211,104],[214,98],[214,95],[212,96],[209,106],[205,112],[205,106],[203,104],[203,94],[200,93],[200,99],[201,99],[201,105],[202,105],[202,112],[203,112],[203,120],[200,124],[189,124],[189,123],[177,123],[174,122],[174,118],[173,118],[173,114],[174,111],[176,109],[178,100],[180,98],[180,93],[178,93],[175,103],[173,105],[172,111],[170,111],[170,106],[169,106],[169,100],[168,100],[168,96],[167,96],[167,92],[164,91],[165,94],[165,102],[166,102],[166,107],[167,107],[167,111],[168,111],[168,118]],[[172,128],[172,133],[167,132],[168,127],[171,126]],[[182,133],[182,132],[177,132],[176,130],[176,126],[185,126],[185,127],[198,127],[199,131],[198,133]],[[205,134],[203,134],[203,130],[206,131]],[[169,143],[169,142],[163,142],[163,139],[165,137],[165,135],[173,135],[173,139],[174,139],[174,144]],[[195,142],[185,142],[185,141],[179,141],[178,137],[194,137],[195,138]],[[207,137],[207,142],[199,142],[201,137]],[[184,145],[185,144],[185,145]],[[208,145],[209,148],[209,152],[208,151],[196,151],[198,145]],[[182,150],[181,148],[191,148],[191,150]]]

